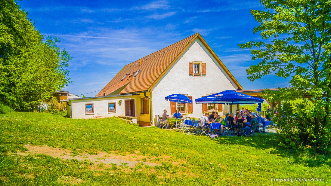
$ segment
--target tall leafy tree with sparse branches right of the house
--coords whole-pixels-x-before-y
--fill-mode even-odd
[[[252,49],[252,60],[260,62],[246,71],[249,80],[275,73],[289,78],[289,88],[269,98],[287,100],[309,99],[305,107],[313,118],[315,146],[325,144],[330,133],[331,94],[331,1],[330,0],[261,0],[265,10],[251,10],[259,26],[262,41],[240,44]],[[307,105],[307,104],[306,104]],[[294,112],[293,112],[294,113]]]

